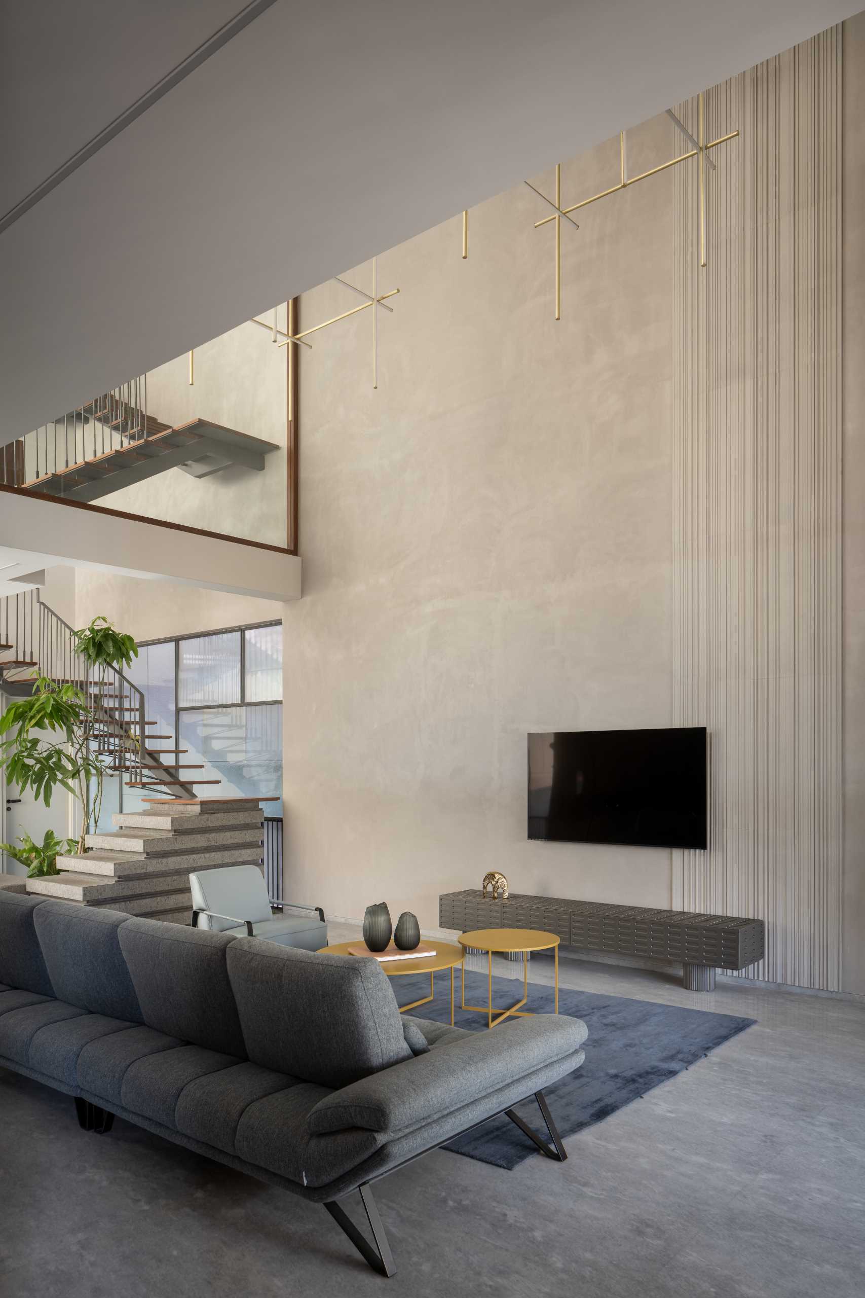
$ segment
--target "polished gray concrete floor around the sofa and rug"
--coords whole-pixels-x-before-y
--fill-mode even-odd
[[[323,1208],[121,1120],[87,1134],[71,1099],[0,1070],[1,1298],[862,1298],[865,1005],[580,961],[562,981],[757,1024],[563,1166],[442,1150],[388,1177],[392,1280]]]

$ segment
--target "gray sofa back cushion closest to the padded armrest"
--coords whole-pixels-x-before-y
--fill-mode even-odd
[[[377,961],[241,937],[227,964],[246,1054],[263,1068],[345,1086],[412,1058]]]

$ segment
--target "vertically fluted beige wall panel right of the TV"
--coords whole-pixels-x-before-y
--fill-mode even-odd
[[[698,130],[696,100],[680,105]],[[711,732],[711,845],[673,903],[766,922],[751,976],[840,986],[842,29],[713,88],[677,167],[673,709]],[[861,363],[861,360],[860,362]]]

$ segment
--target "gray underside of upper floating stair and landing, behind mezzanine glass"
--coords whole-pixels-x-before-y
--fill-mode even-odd
[[[230,465],[261,471],[265,456],[279,450],[274,441],[250,437],[209,419],[192,419],[176,428],[163,426],[163,430],[69,469],[43,474],[23,485],[48,496],[93,501],[169,469],[189,467],[193,476],[207,476]]]

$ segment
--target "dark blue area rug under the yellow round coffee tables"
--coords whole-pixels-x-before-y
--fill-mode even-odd
[[[537,959],[537,957],[533,957]],[[454,1025],[486,1032],[482,1014],[459,1009],[459,971],[455,971]],[[394,979],[401,1005],[429,994],[425,974]],[[486,1003],[486,974],[466,975],[466,999]],[[523,994],[523,979],[493,979],[493,1005],[514,1005]],[[529,983],[528,1009],[552,1012],[552,988]],[[419,1019],[450,1023],[447,974],[436,975],[436,999],[409,1011]],[[686,1010],[654,1001],[632,1001],[624,996],[559,989],[559,1014],[582,1019],[589,1028],[586,1059],[575,1072],[545,1089],[550,1111],[562,1136],[573,1136],[584,1127],[624,1108],[632,1099],[669,1081],[698,1059],[744,1032],[756,1020],[707,1010]],[[507,1022],[507,1020],[506,1020]],[[493,1028],[494,1032],[498,1028]],[[546,1128],[534,1099],[515,1106],[520,1116],[546,1138]],[[519,1167],[537,1150],[507,1118],[492,1118],[482,1127],[458,1136],[447,1149],[495,1167]]]

